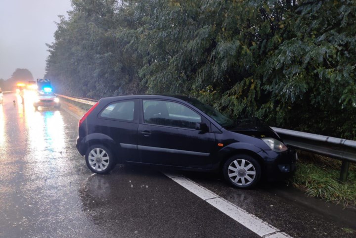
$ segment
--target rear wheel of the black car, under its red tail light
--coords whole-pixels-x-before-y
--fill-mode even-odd
[[[85,158],[88,168],[96,174],[106,174],[115,166],[113,154],[103,145],[90,146]]]

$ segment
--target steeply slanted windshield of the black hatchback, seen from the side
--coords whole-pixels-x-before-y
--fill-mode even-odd
[[[209,106],[195,98],[189,98],[186,101],[205,112],[221,126],[225,128],[234,126],[234,121],[232,119],[225,117],[220,111],[216,110],[214,107]]]

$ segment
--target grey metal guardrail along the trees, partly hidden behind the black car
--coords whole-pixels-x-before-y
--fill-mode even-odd
[[[96,100],[89,98],[65,95],[58,96],[89,105],[94,105],[96,102]],[[356,141],[292,131],[277,127],[271,128],[278,133],[284,143],[291,147],[342,160],[339,180],[341,182],[347,181],[350,162],[356,163]]]

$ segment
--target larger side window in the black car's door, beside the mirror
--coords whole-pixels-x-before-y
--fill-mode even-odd
[[[143,118],[148,124],[195,129],[201,116],[177,102],[143,100]]]

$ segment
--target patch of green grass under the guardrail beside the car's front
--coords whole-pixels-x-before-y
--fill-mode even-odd
[[[300,158],[292,184],[309,196],[326,201],[356,206],[356,165],[350,164],[346,183],[338,181],[341,161],[298,151]]]

